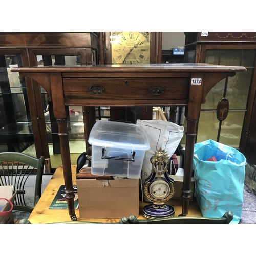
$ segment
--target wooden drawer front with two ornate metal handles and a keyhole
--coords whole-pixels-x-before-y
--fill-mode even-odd
[[[189,78],[63,78],[65,100],[187,99]]]

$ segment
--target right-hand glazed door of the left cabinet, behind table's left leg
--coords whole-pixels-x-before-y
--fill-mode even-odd
[[[37,48],[29,51],[31,66],[54,66],[54,65],[86,65],[98,63],[98,51],[93,48]],[[58,125],[54,118],[52,102],[48,100],[47,92],[41,88],[41,101],[45,118],[47,147],[51,161],[51,168],[62,164],[60,154],[60,142],[58,136]],[[71,153],[71,164],[76,164],[78,156],[86,151],[84,137],[82,106],[66,106],[68,115],[68,132]],[[95,111],[95,109],[94,109]],[[31,150],[35,150],[31,148]]]

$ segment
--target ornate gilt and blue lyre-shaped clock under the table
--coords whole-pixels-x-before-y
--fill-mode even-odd
[[[143,208],[143,215],[150,219],[173,217],[174,207],[165,204],[175,192],[174,180],[167,173],[168,154],[160,148],[150,161],[151,175],[145,180],[144,194],[153,203]]]

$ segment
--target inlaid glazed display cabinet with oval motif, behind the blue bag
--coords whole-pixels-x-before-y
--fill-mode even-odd
[[[197,142],[212,139],[237,148],[251,164],[256,164],[255,56],[256,32],[185,32],[185,63],[246,67],[208,93]]]

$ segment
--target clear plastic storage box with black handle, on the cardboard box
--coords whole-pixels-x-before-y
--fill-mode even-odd
[[[150,149],[142,125],[99,120],[88,142],[92,145],[92,174],[140,177],[145,151]]]

